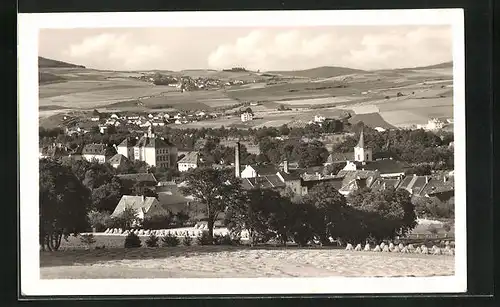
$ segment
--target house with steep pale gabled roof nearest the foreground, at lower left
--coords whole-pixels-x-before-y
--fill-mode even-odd
[[[147,217],[168,214],[168,211],[154,197],[123,195],[111,217],[120,216],[127,208],[134,209],[137,213],[137,218],[140,220],[144,220]]]

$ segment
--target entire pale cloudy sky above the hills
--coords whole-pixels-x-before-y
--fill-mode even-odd
[[[110,70],[375,70],[452,60],[450,26],[41,29],[39,55]]]

